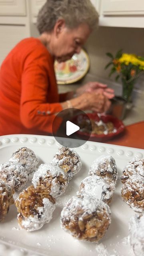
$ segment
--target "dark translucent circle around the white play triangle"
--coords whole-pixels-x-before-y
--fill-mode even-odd
[[[73,127],[73,124],[75,124],[80,127],[80,129],[69,136],[66,135],[66,127],[68,130],[67,121],[71,122],[70,127]],[[60,145],[76,148],[82,146],[89,140],[92,132],[92,123],[88,115],[82,110],[68,108],[60,111],[54,118],[52,132],[54,138]]]

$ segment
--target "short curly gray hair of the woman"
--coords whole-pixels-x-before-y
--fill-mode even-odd
[[[40,34],[52,31],[60,19],[65,20],[68,28],[81,23],[88,24],[90,30],[98,27],[98,13],[90,0],[47,0],[38,13],[38,31]]]

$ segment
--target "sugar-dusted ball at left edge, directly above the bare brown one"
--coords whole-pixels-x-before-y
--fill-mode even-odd
[[[9,184],[14,191],[17,191],[25,186],[28,174],[21,164],[5,162],[0,168],[0,179]]]

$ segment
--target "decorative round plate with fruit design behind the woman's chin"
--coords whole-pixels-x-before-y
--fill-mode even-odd
[[[70,60],[58,63],[54,62],[56,80],[58,84],[71,84],[83,78],[90,67],[88,54],[81,50],[80,54],[74,54]]]

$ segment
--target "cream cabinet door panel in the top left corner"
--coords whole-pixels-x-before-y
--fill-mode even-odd
[[[26,16],[26,1],[0,0],[0,16]]]

